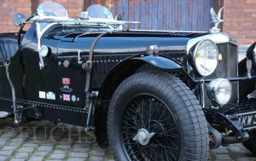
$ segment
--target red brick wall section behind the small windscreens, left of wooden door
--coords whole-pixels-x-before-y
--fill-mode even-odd
[[[14,13],[24,13],[29,17],[32,8],[42,3],[43,1],[51,0],[0,0],[0,33],[17,32],[19,27],[13,25],[12,16]],[[69,17],[80,17],[83,10],[83,0],[54,0],[63,5],[67,10]],[[32,4],[31,4],[32,2]]]

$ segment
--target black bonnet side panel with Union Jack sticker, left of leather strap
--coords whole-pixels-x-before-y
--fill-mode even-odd
[[[92,41],[77,43],[75,39],[79,39],[79,35],[83,35],[83,33],[67,34],[59,43],[58,90],[60,104],[84,108],[86,72],[81,66],[84,62],[84,48],[89,48]],[[78,57],[81,57],[81,60],[78,60]]]

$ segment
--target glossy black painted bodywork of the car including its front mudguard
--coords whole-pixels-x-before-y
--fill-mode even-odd
[[[101,32],[89,31],[81,27],[63,28],[60,25],[54,25],[42,38],[42,45],[49,48],[49,54],[43,58],[45,67],[40,69],[35,24],[31,25],[22,38],[19,50],[11,54],[12,57],[10,56],[10,77],[15,85],[17,103],[24,107],[22,110],[24,116],[86,127],[88,117],[84,91],[86,71],[82,66],[88,60],[93,40]],[[141,70],[164,70],[182,79],[183,72],[186,77],[184,82],[190,79],[200,83],[200,80],[195,80],[184,70],[188,59],[186,45],[189,39],[205,34],[209,33],[115,31],[99,39],[93,49],[90,89],[91,92],[99,91],[99,95],[93,100],[93,112],[88,126],[95,127],[100,146],[108,146],[106,114],[109,101],[116,87],[131,74]],[[0,34],[0,41],[10,38],[17,39],[17,34]],[[148,55],[145,50],[150,45],[159,46],[159,53]],[[79,51],[81,51],[81,60],[79,60]],[[10,85],[6,78],[3,61],[0,63],[1,110],[12,112]],[[62,78],[70,79],[66,92],[63,92]],[[237,79],[247,80],[248,78]],[[42,99],[39,97],[39,91],[53,92],[56,99]],[[68,94],[70,97],[75,95],[76,101],[72,101],[71,98],[70,101],[64,101],[63,94]],[[211,112],[210,110],[205,113],[207,116],[216,113],[216,111]],[[227,125],[233,125],[232,120],[226,120],[230,123]],[[231,129],[239,128],[239,126],[233,126]]]

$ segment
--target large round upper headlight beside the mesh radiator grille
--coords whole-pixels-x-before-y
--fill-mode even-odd
[[[211,39],[204,39],[196,45],[193,53],[193,62],[196,70],[202,76],[209,76],[218,64],[219,51]]]

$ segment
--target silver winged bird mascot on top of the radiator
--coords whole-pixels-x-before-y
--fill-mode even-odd
[[[220,25],[221,22],[224,22],[224,20],[221,20],[221,11],[223,10],[223,7],[218,11],[218,15],[214,11],[213,8],[211,8],[211,17],[212,17],[212,22],[214,22],[214,27],[210,29],[211,33],[219,33],[220,28],[218,26]]]

